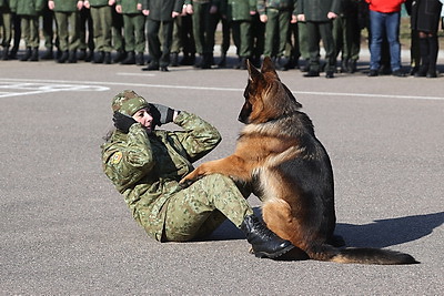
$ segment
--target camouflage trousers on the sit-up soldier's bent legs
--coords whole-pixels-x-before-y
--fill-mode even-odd
[[[174,194],[168,202],[162,241],[185,242],[204,237],[229,218],[240,227],[253,214],[246,202],[251,191],[230,177],[208,175]]]

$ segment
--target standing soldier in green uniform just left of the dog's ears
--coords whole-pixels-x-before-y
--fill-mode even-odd
[[[245,69],[245,60],[253,54],[252,48],[252,16],[250,11],[256,10],[256,0],[223,0],[222,11],[226,16],[240,63],[235,67]]]

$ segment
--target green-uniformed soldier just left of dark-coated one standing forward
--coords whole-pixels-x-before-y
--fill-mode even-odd
[[[145,51],[145,17],[138,4],[141,0],[118,0],[117,4],[122,7],[124,27],[124,49],[129,54],[127,61],[135,63],[134,52],[138,54],[138,64],[143,64],[143,52]],[[123,62],[125,63],[125,62]]]

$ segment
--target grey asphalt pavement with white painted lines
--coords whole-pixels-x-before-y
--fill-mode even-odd
[[[444,295],[444,75],[367,78],[361,62],[279,74],[331,156],[336,233],[421,264],[259,259],[229,222],[201,242],[144,234],[101,169],[113,95],[200,114],[223,136],[214,160],[242,129],[246,71],[0,61],[0,295]]]

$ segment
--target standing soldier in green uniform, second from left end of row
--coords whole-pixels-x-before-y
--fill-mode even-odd
[[[11,9],[21,18],[21,35],[27,47],[21,61],[39,60],[39,13],[44,4],[44,0],[10,0]]]

